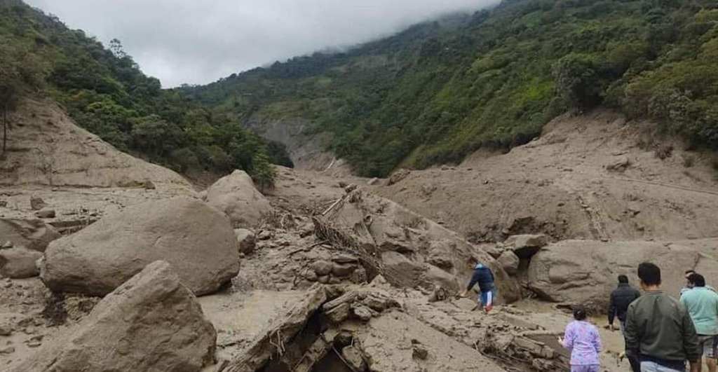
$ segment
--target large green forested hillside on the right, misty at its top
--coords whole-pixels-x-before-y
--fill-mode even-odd
[[[715,149],[718,2],[505,0],[185,92],[238,120],[309,119],[366,176],[510,148],[596,105]]]

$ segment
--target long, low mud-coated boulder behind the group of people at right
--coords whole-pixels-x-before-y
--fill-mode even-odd
[[[636,271],[641,262],[661,267],[663,290],[674,297],[685,285],[686,270],[718,277],[717,259],[684,244],[568,240],[544,247],[533,256],[528,285],[546,300],[604,310],[618,275],[628,275],[638,287]]]

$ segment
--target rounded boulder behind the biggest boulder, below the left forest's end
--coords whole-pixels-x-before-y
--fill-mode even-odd
[[[235,227],[253,227],[270,214],[269,201],[254,187],[244,171],[220,178],[207,190],[207,202],[225,212]]]

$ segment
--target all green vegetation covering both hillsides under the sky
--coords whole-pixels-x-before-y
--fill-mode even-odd
[[[286,151],[243,130],[249,121],[309,120],[355,171],[386,176],[526,143],[556,115],[597,105],[718,149],[714,0],[504,0],[174,90],[143,75],[119,42],[107,50],[17,1],[0,4],[9,40],[0,45],[50,61],[33,71],[80,125],[181,171],[271,178],[264,164],[289,162]]]

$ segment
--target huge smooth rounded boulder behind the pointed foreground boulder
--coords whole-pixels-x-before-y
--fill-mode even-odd
[[[195,295],[215,292],[239,271],[228,219],[202,201],[177,196],[130,206],[52,242],[40,275],[53,291],[101,296],[159,259],[172,264]]]

